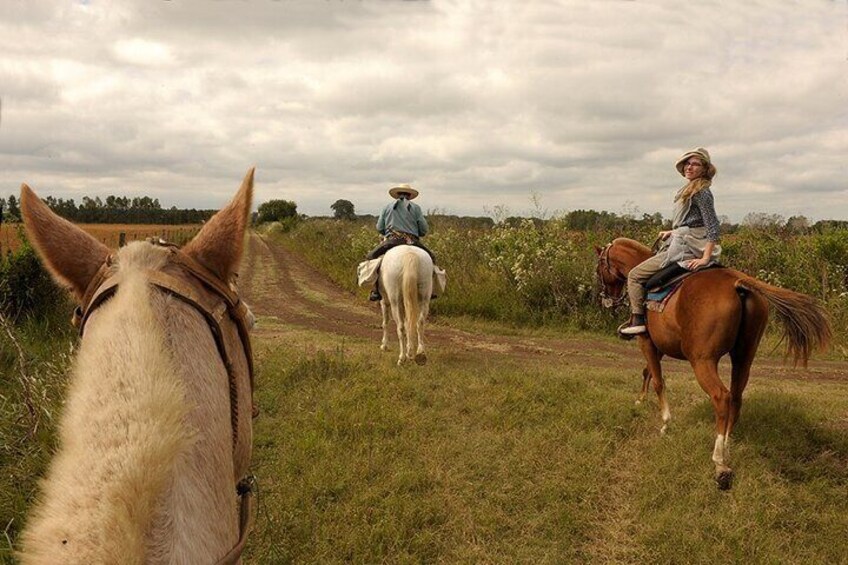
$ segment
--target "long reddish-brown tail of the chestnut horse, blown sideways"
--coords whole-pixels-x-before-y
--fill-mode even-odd
[[[795,365],[804,366],[816,349],[825,349],[833,337],[827,313],[812,296],[770,285],[754,277],[740,277],[737,290],[756,292],[763,296],[777,312],[783,325],[781,341],[786,341],[786,353],[792,355]]]

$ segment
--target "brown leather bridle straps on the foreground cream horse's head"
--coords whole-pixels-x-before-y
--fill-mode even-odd
[[[209,330],[212,332],[212,337],[215,340],[215,345],[218,348],[218,354],[221,356],[221,361],[223,361],[224,367],[227,370],[230,389],[230,423],[232,425],[233,452],[235,452],[239,423],[238,378],[232,361],[232,352],[227,348],[222,322],[225,317],[229,317],[236,325],[239,340],[241,341],[245,359],[247,360],[250,393],[252,396],[253,354],[250,346],[250,335],[248,333],[247,306],[227,284],[222,282],[209,269],[180,251],[176,245],[154,238],[149,238],[147,241],[153,245],[168,249],[170,255],[167,265],[177,267],[182,274],[187,275],[188,279],[200,283],[200,286],[208,291],[208,293],[198,292],[196,288],[185,280],[164,271],[147,270],[145,272],[148,284],[189,304],[202,314],[206,320]],[[123,276],[117,271],[114,256],[110,254],[89,283],[82,303],[74,310],[73,324],[79,329],[80,335],[83,334],[85,324],[91,313],[115,294],[122,280]],[[244,477],[236,485],[236,494],[241,501],[239,505],[239,539],[227,555],[218,561],[217,565],[236,563],[244,551],[247,534],[250,531],[251,502],[255,485],[256,478],[252,475]]]

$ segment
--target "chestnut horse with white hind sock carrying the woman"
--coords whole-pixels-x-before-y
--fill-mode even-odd
[[[652,255],[632,239],[618,238],[603,249],[596,247],[597,275],[605,307],[626,300],[627,274]],[[665,396],[660,361],[664,355],[689,361],[698,384],[713,403],[716,440],[712,460],[715,478],[722,489],[730,488],[730,433],[739,420],[742,392],[751,364],[774,308],[784,329],[787,355],[806,365],[811,352],[825,348],[832,330],[822,307],[811,297],[779,288],[733,269],[708,269],[687,277],[662,312],[647,310],[648,333],[639,335],[647,361],[642,396],[648,382],[654,384],[665,432],[671,413]],[[730,390],[718,374],[721,357],[730,354]]]

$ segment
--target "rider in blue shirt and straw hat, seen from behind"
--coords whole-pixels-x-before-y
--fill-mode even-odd
[[[408,184],[399,184],[389,189],[389,195],[395,201],[387,204],[377,219],[377,231],[383,236],[383,240],[380,245],[371,250],[367,258],[376,259],[398,245],[414,245],[429,253],[435,264],[436,258],[433,252],[424,247],[420,241],[420,238],[427,235],[430,228],[421,212],[421,207],[412,202],[418,197],[418,191]],[[376,302],[382,298],[375,283],[368,300]]]

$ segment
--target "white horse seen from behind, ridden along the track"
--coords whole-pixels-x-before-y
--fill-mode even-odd
[[[379,284],[383,295],[380,302],[383,311],[383,342],[380,349],[387,351],[389,348],[388,323],[391,310],[400,349],[398,365],[409,359],[415,359],[416,363],[423,365],[427,362],[424,353],[424,322],[430,313],[430,296],[433,293],[433,260],[420,247],[393,247],[383,256]]]

